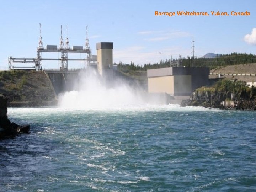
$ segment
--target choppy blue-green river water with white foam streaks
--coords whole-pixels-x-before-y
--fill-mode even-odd
[[[9,108],[0,191],[256,191],[256,113]]]

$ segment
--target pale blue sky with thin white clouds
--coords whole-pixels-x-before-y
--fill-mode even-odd
[[[255,0],[0,0],[0,70],[8,70],[7,58],[35,58],[42,25],[43,46],[58,45],[60,25],[70,46],[84,46],[86,26],[92,54],[97,42],[113,42],[113,62],[144,65],[208,52],[256,54]],[[175,12],[174,16],[155,15]],[[209,16],[177,15],[177,11],[207,12]],[[227,12],[229,16],[215,16]],[[250,12],[250,16],[232,16]],[[68,54],[68,58],[85,58]],[[42,53],[42,58],[60,58],[60,53]],[[29,64],[28,64],[29,65]],[[69,62],[69,68],[82,67]],[[42,68],[58,68],[58,62],[42,61]]]

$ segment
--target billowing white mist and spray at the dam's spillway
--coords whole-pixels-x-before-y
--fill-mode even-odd
[[[113,71],[105,78],[95,69],[86,69],[78,74],[73,88],[60,94],[58,106],[78,109],[107,109],[132,105],[142,105],[145,90],[134,82],[113,75]]]

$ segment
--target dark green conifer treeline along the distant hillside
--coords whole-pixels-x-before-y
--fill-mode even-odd
[[[164,68],[170,66],[180,66],[180,67],[210,67],[215,68],[218,66],[228,66],[228,65],[239,65],[245,63],[256,63],[256,55],[246,54],[246,53],[231,53],[231,54],[220,54],[214,58],[194,58],[192,63],[192,57],[184,57],[179,59],[167,59],[165,61],[161,60],[159,63],[147,63],[144,65],[135,65],[134,63],[124,64],[122,62],[114,63],[117,65],[118,70],[127,71],[146,71],[148,69]]]

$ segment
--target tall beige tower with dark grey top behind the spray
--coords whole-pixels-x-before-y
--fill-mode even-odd
[[[113,66],[113,43],[100,42],[96,44],[97,49],[97,70],[100,75],[109,71]]]

